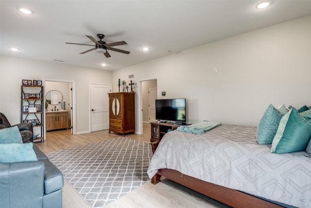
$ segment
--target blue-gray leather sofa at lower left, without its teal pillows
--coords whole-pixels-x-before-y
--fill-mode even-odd
[[[0,163],[0,208],[62,208],[63,175],[34,151],[38,161]]]

